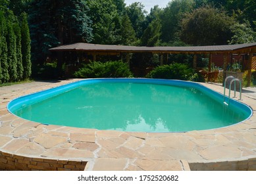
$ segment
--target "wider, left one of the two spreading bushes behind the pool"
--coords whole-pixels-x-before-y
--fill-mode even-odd
[[[74,73],[76,78],[130,78],[126,63],[122,61],[90,62]]]

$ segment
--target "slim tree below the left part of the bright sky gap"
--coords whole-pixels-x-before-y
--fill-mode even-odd
[[[126,7],[126,12],[132,22],[132,27],[136,32],[136,37],[140,38],[145,30],[145,13],[144,6],[141,3],[132,3]]]

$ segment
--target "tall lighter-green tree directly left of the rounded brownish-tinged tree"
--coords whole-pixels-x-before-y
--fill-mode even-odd
[[[179,39],[180,22],[186,13],[193,11],[194,7],[193,0],[174,0],[168,3],[161,15],[163,33],[161,39],[163,42],[168,43]]]

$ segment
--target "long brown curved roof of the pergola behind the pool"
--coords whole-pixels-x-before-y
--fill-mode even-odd
[[[49,49],[50,51],[83,51],[88,53],[256,53],[256,43],[238,45],[211,45],[191,47],[136,47],[124,45],[97,45],[73,43]]]

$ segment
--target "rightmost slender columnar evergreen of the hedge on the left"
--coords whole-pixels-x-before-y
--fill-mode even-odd
[[[21,53],[22,53],[22,66],[24,68],[22,78],[27,80],[32,71],[31,71],[31,55],[30,55],[30,31],[28,28],[27,14],[22,13],[20,20],[20,30],[21,30]]]

